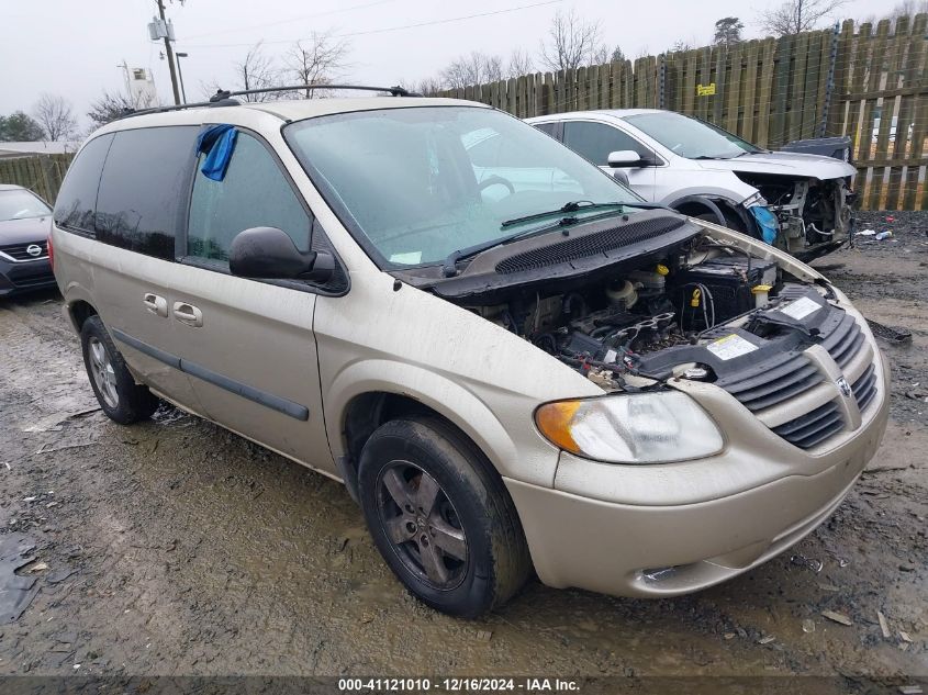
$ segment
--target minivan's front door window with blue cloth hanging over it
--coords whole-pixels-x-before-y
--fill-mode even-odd
[[[268,149],[239,132],[222,181],[200,171],[193,179],[193,198],[187,232],[187,255],[228,264],[232,239],[250,227],[283,229],[301,251],[310,250],[312,221]]]

